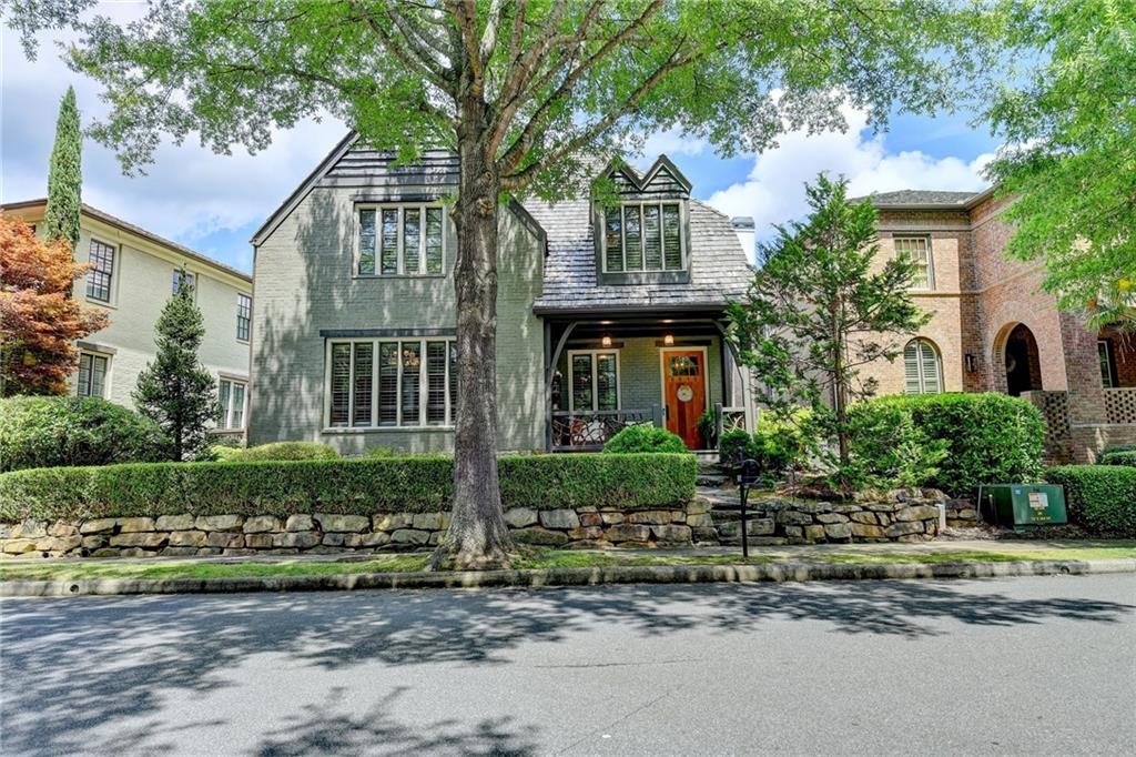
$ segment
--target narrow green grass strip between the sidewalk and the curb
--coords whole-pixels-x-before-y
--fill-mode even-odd
[[[659,551],[655,554],[620,551],[565,551],[526,548],[513,567],[520,569],[649,566],[649,565],[768,565],[785,560],[811,560],[833,564],[905,564],[958,561],[1020,561],[1020,560],[1092,560],[1136,558],[1136,541],[1124,540],[1106,546],[1036,548],[1022,546],[989,549],[938,550],[879,550],[850,548],[846,550],[796,551],[793,554],[754,555],[691,555]],[[82,579],[214,579],[284,575],[332,575],[352,573],[402,573],[421,571],[429,556],[425,552],[409,555],[376,555],[362,560],[281,559],[277,561],[207,563],[202,560],[170,560],[136,563],[123,560],[55,560],[11,565],[0,563],[0,581],[76,581]]]

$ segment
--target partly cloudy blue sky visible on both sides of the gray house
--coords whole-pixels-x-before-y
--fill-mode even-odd
[[[117,6],[122,9],[124,6]],[[24,58],[17,38],[2,31],[0,51],[0,201],[43,197],[55,119],[68,84],[84,125],[105,111],[98,85],[59,60],[50,36],[37,60]],[[897,189],[978,190],[996,142],[969,125],[970,114],[901,116],[888,132],[863,128],[864,114],[845,111],[847,133],[787,134],[762,155],[722,159],[696,140],[653,135],[640,159],[667,152],[694,184],[694,194],[729,215],[752,216],[759,239],[771,224],[799,217],[803,184],[820,170],[844,174],[857,194]],[[276,134],[256,156],[236,148],[218,156],[187,141],[164,144],[143,177],[122,175],[114,155],[86,140],[83,200],[210,257],[249,271],[249,238],[345,133],[333,120],[306,122]]]

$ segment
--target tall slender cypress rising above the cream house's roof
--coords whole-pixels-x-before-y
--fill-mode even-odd
[[[83,135],[78,126],[75,88],[68,86],[59,103],[56,144],[48,168],[48,207],[43,211],[47,241],[66,240],[74,253],[78,244],[78,214],[82,206],[83,174],[80,168]]]

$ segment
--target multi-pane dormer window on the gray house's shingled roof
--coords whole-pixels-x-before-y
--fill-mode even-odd
[[[604,210],[607,273],[680,271],[684,244],[677,202],[626,202]]]

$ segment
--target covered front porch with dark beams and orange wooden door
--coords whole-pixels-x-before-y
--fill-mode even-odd
[[[705,423],[753,427],[747,378],[724,339],[721,311],[546,318],[545,438],[550,451],[599,451],[630,425],[655,425],[692,450]]]

